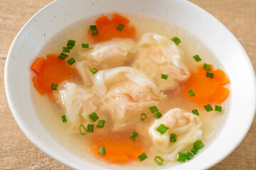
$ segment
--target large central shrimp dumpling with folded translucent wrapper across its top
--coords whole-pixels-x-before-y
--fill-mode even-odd
[[[134,116],[164,98],[156,85],[142,72],[132,67],[117,67],[97,72],[95,94],[102,96],[102,109],[112,118],[113,130],[134,124]],[[135,121],[136,122],[136,121]]]

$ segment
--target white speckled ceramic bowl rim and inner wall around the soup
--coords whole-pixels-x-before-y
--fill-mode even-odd
[[[154,16],[176,23],[201,40],[225,67],[231,81],[231,93],[223,128],[201,154],[174,169],[207,169],[227,157],[245,137],[254,118],[255,73],[233,34],[218,19],[189,1],[59,0],[38,11],[16,36],[6,60],[6,96],[21,130],[43,152],[73,169],[104,169],[63,149],[43,128],[33,108],[29,68],[41,47],[61,28],[83,18],[113,11]]]

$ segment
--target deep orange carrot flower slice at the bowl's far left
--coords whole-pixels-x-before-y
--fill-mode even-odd
[[[60,60],[58,55],[47,55],[46,58],[40,57],[33,62],[31,69],[38,76],[33,77],[32,81],[39,94],[51,96],[51,84],[75,79],[77,72],[65,60]]]

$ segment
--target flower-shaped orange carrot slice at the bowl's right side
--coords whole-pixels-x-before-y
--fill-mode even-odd
[[[206,77],[206,72],[213,72],[213,79]],[[223,70],[213,71],[213,65],[211,65],[210,71],[206,71],[203,69],[203,65],[200,65],[198,71],[192,72],[191,77],[184,83],[186,88],[182,92],[188,100],[199,106],[205,106],[210,101],[220,104],[228,97],[228,89],[221,85],[228,83],[228,77]],[[194,92],[195,96],[188,94],[190,90]]]

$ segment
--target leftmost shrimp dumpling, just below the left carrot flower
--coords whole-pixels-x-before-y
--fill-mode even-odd
[[[89,90],[73,83],[66,83],[59,91],[57,100],[63,106],[68,122],[74,127],[85,123],[88,115],[95,111],[94,95]]]

